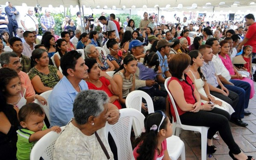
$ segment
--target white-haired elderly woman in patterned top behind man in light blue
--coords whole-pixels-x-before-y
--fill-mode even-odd
[[[102,71],[113,71],[115,69],[114,65],[108,60],[104,54],[100,54],[99,50],[92,44],[87,45],[84,48],[85,58],[96,59],[99,68]]]

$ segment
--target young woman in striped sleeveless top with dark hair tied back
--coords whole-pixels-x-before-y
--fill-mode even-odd
[[[124,58],[122,66],[114,73],[113,80],[116,82],[119,94],[119,102],[125,108],[125,98],[135,89],[135,73],[137,70],[137,59],[133,55]]]

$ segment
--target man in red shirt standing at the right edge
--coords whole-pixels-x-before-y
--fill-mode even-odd
[[[253,59],[256,55],[256,22],[253,14],[247,14],[245,17],[245,23],[249,26],[247,34],[244,37],[244,40],[237,47],[237,51],[240,52],[242,46],[250,45],[253,47]],[[253,79],[256,80],[256,72],[253,74]]]

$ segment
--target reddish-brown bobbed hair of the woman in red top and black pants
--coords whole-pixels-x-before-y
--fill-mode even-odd
[[[191,58],[185,53],[175,54],[169,62],[172,77],[182,79],[183,71],[191,64]]]

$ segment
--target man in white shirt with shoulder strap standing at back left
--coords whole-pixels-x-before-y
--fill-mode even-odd
[[[33,15],[34,11],[32,8],[29,8],[28,14],[26,14],[22,20],[20,20],[21,25],[24,27],[25,31],[28,31],[28,29],[33,28],[35,31],[37,31],[38,34],[38,20]]]

